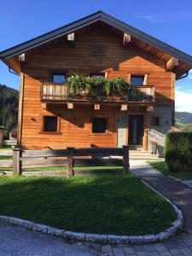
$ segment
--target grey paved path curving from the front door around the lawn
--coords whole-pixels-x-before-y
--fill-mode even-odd
[[[144,160],[131,160],[131,172],[165,195],[183,212],[184,227],[181,233],[161,243],[119,246],[102,246],[102,256],[192,256],[192,188],[172,177],[166,177]]]

